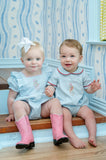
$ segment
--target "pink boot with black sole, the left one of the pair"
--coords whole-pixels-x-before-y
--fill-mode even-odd
[[[17,128],[21,134],[21,141],[16,144],[17,149],[31,149],[35,146],[32,129],[30,126],[28,116],[22,117],[19,121],[16,121]]]

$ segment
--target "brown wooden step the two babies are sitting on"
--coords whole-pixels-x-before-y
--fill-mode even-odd
[[[101,114],[95,113],[95,119],[96,123],[105,123],[106,122],[106,116],[103,116]],[[18,129],[15,125],[15,122],[6,122],[5,118],[6,115],[0,115],[0,133],[9,133],[9,132],[17,132]],[[32,130],[39,130],[39,129],[49,129],[51,128],[51,121],[49,118],[47,119],[39,119],[39,120],[30,120],[30,124],[32,127]],[[79,126],[84,125],[85,122],[83,119],[79,117],[73,117],[72,120],[73,126]]]

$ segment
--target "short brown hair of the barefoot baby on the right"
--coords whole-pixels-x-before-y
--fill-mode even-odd
[[[80,42],[78,42],[77,40],[75,40],[75,39],[66,39],[66,40],[64,40],[62,42],[62,44],[60,45],[60,47],[59,47],[60,54],[61,54],[61,47],[63,45],[66,45],[67,47],[70,47],[70,48],[76,48],[76,49],[78,49],[80,55],[82,55],[83,48],[82,48]]]

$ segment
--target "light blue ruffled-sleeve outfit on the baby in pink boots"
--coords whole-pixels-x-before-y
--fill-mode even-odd
[[[9,88],[18,92],[15,101],[24,100],[30,105],[30,119],[41,118],[41,104],[50,99],[44,91],[51,73],[52,71],[44,66],[40,75],[25,77],[22,72],[11,72],[8,78]]]

